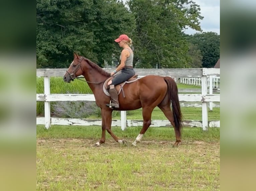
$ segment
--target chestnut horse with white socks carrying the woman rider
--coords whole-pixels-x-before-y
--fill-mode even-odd
[[[95,143],[95,146],[105,143],[106,130],[116,142],[127,145],[126,140],[120,139],[111,130],[113,108],[107,106],[111,98],[103,91],[104,83],[113,76],[89,59],[74,53],[74,60],[63,76],[63,80],[70,83],[81,75],[84,76],[92,90],[97,106],[101,108],[102,136],[100,141]],[[176,136],[173,146],[178,146],[181,142],[182,114],[176,82],[171,77],[148,75],[125,84],[122,89],[125,97],[122,94],[118,95],[119,108],[115,110],[135,110],[142,107],[143,127],[132,146],[136,147],[136,144],[141,141],[142,136],[151,125],[152,111],[156,106],[161,109],[173,126]],[[172,110],[170,105],[172,105]]]

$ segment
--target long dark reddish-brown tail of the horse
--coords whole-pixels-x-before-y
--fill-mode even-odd
[[[176,82],[171,77],[166,76],[163,79],[166,82],[168,87],[168,94],[169,94],[171,105],[172,105],[175,130],[181,136],[182,114],[181,114],[180,105],[179,105],[178,87]]]

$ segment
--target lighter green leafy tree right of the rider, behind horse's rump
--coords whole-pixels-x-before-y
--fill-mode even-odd
[[[136,22],[132,38],[138,66],[189,67],[189,44],[182,31],[187,26],[201,31],[199,6],[187,0],[130,0],[128,5]]]

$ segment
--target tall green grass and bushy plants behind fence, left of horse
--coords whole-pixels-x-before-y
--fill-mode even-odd
[[[43,94],[44,85],[43,78],[36,78],[36,93]],[[63,82],[61,77],[50,78],[50,90],[51,94],[92,94],[92,90],[87,83],[75,80],[68,84]],[[101,118],[100,108],[95,102],[50,102],[51,114],[54,117],[63,118],[87,118],[94,116],[95,118]],[[44,102],[36,102],[36,115],[44,116]],[[120,116],[120,111],[113,111],[112,116]]]

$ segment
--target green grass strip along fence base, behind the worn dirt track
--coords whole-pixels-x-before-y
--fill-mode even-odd
[[[120,138],[134,139],[142,127],[128,127],[122,131],[121,127],[112,127],[114,133]],[[93,139],[101,137],[100,126],[69,126],[51,125],[45,129],[43,125],[37,125],[37,138],[82,138]],[[107,133],[106,138],[112,139]],[[203,131],[200,127],[184,127],[182,129],[182,139],[186,141],[218,141],[220,139],[220,128],[209,128]],[[150,127],[143,136],[143,140],[175,140],[173,127]]]

